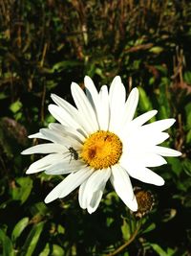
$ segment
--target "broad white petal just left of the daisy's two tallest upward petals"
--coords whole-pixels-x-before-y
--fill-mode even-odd
[[[80,86],[76,83],[72,83],[71,91],[74,98],[74,103],[77,106],[80,113],[86,118],[86,122],[88,122],[90,128],[92,128],[92,132],[98,129],[97,121],[96,121],[96,113],[94,111],[93,106],[90,104],[87,99],[85,93],[80,88]]]

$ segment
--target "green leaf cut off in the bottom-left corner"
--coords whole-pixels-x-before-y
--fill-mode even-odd
[[[5,232],[0,229],[0,241],[3,247],[2,256],[14,256],[14,250],[11,243],[11,239],[5,234]]]

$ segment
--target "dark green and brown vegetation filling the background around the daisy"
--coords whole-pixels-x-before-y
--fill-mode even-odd
[[[176,118],[165,145],[182,152],[155,170],[163,187],[138,220],[108,184],[96,213],[79,208],[77,192],[46,205],[62,177],[26,175],[36,156],[28,134],[53,122],[56,93],[73,103],[72,81],[89,75],[97,88],[120,75],[138,86],[138,114],[158,109]],[[0,0],[0,255],[191,255],[191,3],[189,0]]]

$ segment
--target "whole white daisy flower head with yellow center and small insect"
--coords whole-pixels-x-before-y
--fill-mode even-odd
[[[47,175],[67,175],[45,198],[46,203],[64,198],[79,187],[79,205],[91,214],[110,180],[118,197],[132,211],[137,211],[130,177],[158,186],[164,184],[163,178],[149,168],[166,164],[163,156],[180,155],[179,151],[159,146],[169,137],[164,130],[175,119],[145,124],[157,110],[134,119],[138,88],[126,99],[125,87],[118,76],[109,89],[103,85],[99,92],[87,76],[84,84],[86,92],[72,82],[76,107],[52,95],[55,105],[49,105],[49,111],[58,123],[29,136],[50,142],[22,151],[47,154],[32,163],[27,174],[44,171]]]

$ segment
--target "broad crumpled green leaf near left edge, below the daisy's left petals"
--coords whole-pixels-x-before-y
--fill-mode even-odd
[[[16,178],[16,186],[11,190],[11,196],[15,200],[20,200],[24,203],[29,198],[32,191],[32,178],[18,177]]]

